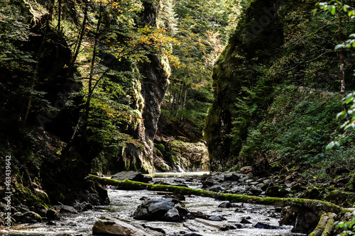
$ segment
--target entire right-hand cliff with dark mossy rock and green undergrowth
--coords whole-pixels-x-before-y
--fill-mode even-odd
[[[212,171],[250,165],[260,174],[270,163],[336,158],[324,147],[337,136],[334,117],[342,110],[333,94],[340,87],[339,26],[330,14],[314,15],[315,3],[253,0],[241,13],[213,72],[214,102],[204,129]],[[349,35],[354,24],[346,21]],[[347,63],[352,78],[353,63]],[[354,79],[348,81],[351,91]],[[342,156],[350,157],[350,146]]]

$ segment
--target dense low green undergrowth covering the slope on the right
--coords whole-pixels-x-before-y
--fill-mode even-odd
[[[328,162],[337,155],[323,150],[338,125],[332,114],[341,107],[339,97],[307,94],[295,86],[275,93],[278,95],[263,121],[249,126],[246,141],[241,142],[240,158],[248,160],[266,154],[268,159],[291,164]],[[238,136],[233,136],[233,140],[238,140]]]

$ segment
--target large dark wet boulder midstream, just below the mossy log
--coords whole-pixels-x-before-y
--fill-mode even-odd
[[[144,201],[133,213],[137,220],[164,220],[177,222],[187,215],[188,210],[177,199],[152,198]]]

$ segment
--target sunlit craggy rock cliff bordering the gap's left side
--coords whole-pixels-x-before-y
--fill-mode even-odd
[[[144,11],[141,13],[141,23],[146,26],[156,26],[159,5],[151,1],[143,2]],[[123,159],[130,162],[130,169],[142,172],[154,172],[153,140],[158,130],[160,117],[160,103],[163,101],[165,91],[168,89],[170,66],[167,58],[157,52],[148,55],[148,62],[139,62],[138,69],[142,74],[141,95],[143,98],[142,122],[136,129],[136,138],[143,142],[143,150],[133,145],[127,145]]]

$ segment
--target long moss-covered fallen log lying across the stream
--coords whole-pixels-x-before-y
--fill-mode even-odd
[[[275,197],[262,198],[257,196],[246,196],[246,195],[238,195],[238,194],[231,194],[231,193],[215,193],[212,191],[205,191],[202,189],[190,189],[181,186],[146,184],[146,183],[141,183],[136,181],[130,181],[128,179],[125,179],[124,181],[118,181],[114,179],[107,179],[107,178],[95,176],[92,174],[89,174],[87,179],[98,181],[101,184],[117,186],[120,189],[127,189],[127,190],[148,189],[150,191],[170,191],[175,194],[196,195],[196,196],[217,198],[222,201],[230,201],[231,203],[255,203],[255,204],[263,204],[268,206],[281,206],[281,207],[299,206],[302,208],[309,208],[310,210],[313,210],[313,212],[317,214],[321,213],[322,211],[327,213],[336,213],[336,214],[346,211],[346,209],[342,208],[341,206],[337,206],[333,203],[329,203],[326,201],[320,201],[314,199],[275,198]]]

